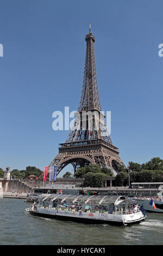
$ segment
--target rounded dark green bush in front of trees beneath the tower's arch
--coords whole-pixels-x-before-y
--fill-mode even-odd
[[[105,173],[86,173],[84,175],[84,187],[104,187]]]

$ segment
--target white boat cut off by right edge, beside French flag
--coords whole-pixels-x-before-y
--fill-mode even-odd
[[[151,211],[151,212],[163,212],[163,190],[161,190],[158,193],[158,196],[156,198],[151,198],[151,197],[136,197],[134,198],[136,201],[136,204],[141,204],[143,205],[143,208],[146,211]],[[149,204],[153,200],[153,203],[155,205],[155,208],[153,208],[153,205]]]

